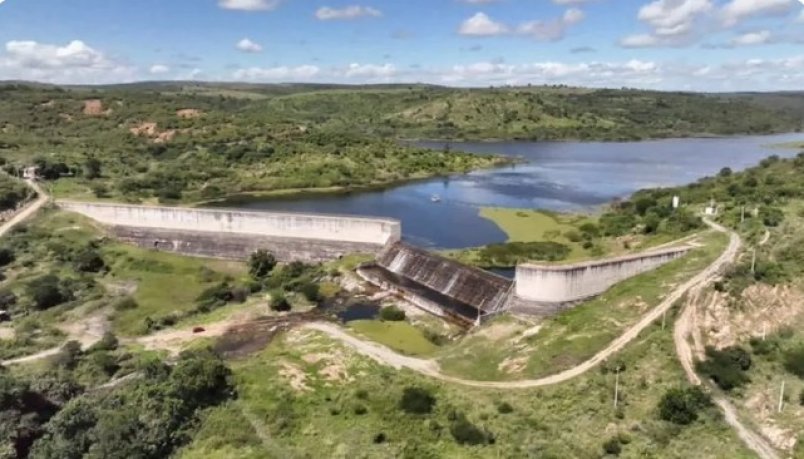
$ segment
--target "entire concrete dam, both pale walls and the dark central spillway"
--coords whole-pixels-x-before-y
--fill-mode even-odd
[[[322,262],[366,253],[364,280],[433,314],[466,325],[503,311],[548,316],[612,285],[684,256],[673,247],[569,265],[521,264],[513,280],[402,242],[398,220],[57,201],[105,225],[121,241],[185,255],[247,259],[257,250],[280,261]]]

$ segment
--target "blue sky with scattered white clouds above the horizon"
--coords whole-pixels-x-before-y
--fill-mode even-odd
[[[0,0],[0,80],[804,90],[804,0]]]

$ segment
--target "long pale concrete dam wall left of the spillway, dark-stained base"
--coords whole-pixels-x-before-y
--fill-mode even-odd
[[[119,239],[187,255],[243,259],[259,249],[282,261],[379,253],[401,238],[397,220],[337,215],[58,201]]]

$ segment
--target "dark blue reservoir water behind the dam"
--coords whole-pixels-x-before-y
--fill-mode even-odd
[[[261,210],[393,217],[407,241],[431,248],[462,248],[505,241],[480,207],[593,209],[649,187],[681,185],[723,167],[745,169],[770,155],[794,156],[771,145],[804,141],[804,134],[669,139],[644,142],[465,142],[453,150],[502,154],[526,163],[420,181],[393,188],[332,195],[230,203]],[[444,142],[419,142],[444,148]],[[433,202],[437,195],[440,202]]]

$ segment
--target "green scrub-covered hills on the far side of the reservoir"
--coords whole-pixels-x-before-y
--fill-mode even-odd
[[[800,116],[751,101],[635,90],[0,86],[0,157],[37,164],[57,196],[129,201],[378,185],[502,161],[400,138],[639,139],[801,127]]]

